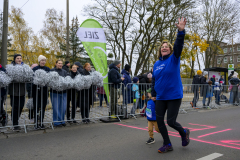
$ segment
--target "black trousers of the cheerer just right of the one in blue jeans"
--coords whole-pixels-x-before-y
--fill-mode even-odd
[[[72,111],[71,111],[71,118],[74,119],[75,118],[75,114],[76,114],[76,107],[77,107],[77,91],[76,89],[69,89],[67,92],[67,119],[70,119],[70,102],[72,102]]]

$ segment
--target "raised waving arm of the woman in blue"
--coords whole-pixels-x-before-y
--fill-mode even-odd
[[[178,24],[176,26],[178,28],[177,39],[174,43],[173,53],[176,58],[179,58],[182,53],[183,44],[184,44],[184,37],[185,37],[185,25],[186,25],[186,18],[178,18]]]

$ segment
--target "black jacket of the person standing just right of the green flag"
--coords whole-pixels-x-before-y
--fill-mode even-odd
[[[114,65],[109,65],[108,72],[108,83],[113,83],[116,89],[120,88],[120,83],[122,82],[121,74],[119,73],[119,69]]]

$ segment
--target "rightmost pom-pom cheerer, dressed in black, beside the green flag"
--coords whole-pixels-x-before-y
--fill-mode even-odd
[[[85,63],[83,66],[84,70],[81,73],[83,76],[90,75],[91,65],[90,63]],[[90,105],[93,104],[93,87],[91,86],[89,89],[83,89],[79,94],[80,99],[80,108],[83,122],[90,122],[89,120],[89,112]]]

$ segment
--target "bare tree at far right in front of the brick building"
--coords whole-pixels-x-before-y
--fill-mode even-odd
[[[216,55],[223,40],[239,29],[239,4],[229,0],[202,0],[202,35],[209,49],[205,53],[205,67],[215,66]]]

